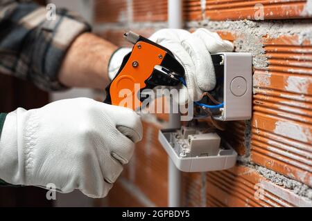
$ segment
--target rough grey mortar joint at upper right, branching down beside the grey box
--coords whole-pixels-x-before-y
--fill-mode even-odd
[[[263,37],[277,38],[281,35],[297,35],[299,44],[312,42],[311,20],[283,21],[190,21],[187,28],[208,28],[211,31],[233,32],[234,46],[238,52],[252,52],[254,68],[266,68],[268,61],[263,48]]]

